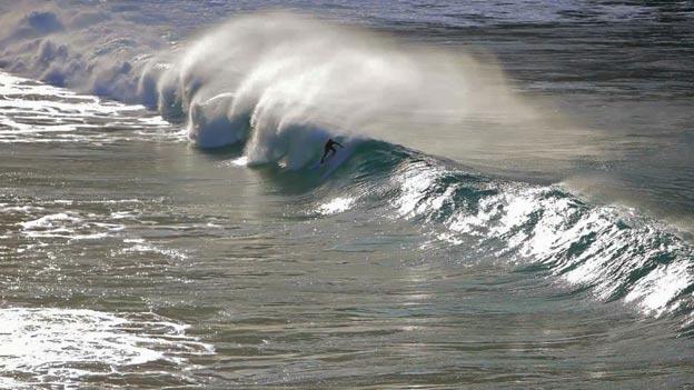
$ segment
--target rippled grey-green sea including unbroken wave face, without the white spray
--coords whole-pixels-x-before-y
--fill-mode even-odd
[[[184,39],[276,6],[167,4],[101,7]],[[379,4],[318,11],[490,50],[589,152],[363,137],[248,167],[142,106],[0,73],[0,388],[694,387],[692,9]]]

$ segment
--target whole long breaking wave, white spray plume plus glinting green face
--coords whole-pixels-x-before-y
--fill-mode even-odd
[[[457,142],[470,118],[536,121],[488,62],[285,13],[241,17],[179,44],[98,8],[23,9],[2,20],[10,71],[140,102],[185,122],[202,148],[242,144],[245,162],[317,177],[340,193],[325,213],[385,208],[472,256],[532,263],[601,300],[691,317],[694,252],[665,227],[561,186],[494,179],[396,146]],[[327,137],[350,158],[316,170]]]

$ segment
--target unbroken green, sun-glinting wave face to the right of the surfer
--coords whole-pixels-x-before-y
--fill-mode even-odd
[[[682,316],[692,326],[694,249],[635,210],[592,206],[561,183],[493,178],[376,141],[356,148],[337,173],[321,184],[328,200],[317,207],[319,214],[386,210],[416,222],[434,242],[466,248],[465,261],[532,268],[597,300]]]

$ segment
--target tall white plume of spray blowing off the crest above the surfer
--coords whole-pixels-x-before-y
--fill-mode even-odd
[[[202,37],[157,86],[160,111],[188,114],[198,144],[248,137],[257,162],[287,156],[301,164],[305,153],[295,148],[320,132],[416,146],[417,138],[455,136],[456,123],[499,107],[506,118],[528,113],[497,69],[469,56],[279,13],[232,20]]]

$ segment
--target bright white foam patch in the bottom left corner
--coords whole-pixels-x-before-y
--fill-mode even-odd
[[[70,387],[86,377],[182,374],[188,359],[214,353],[186,324],[153,313],[86,309],[0,309],[0,388]]]

